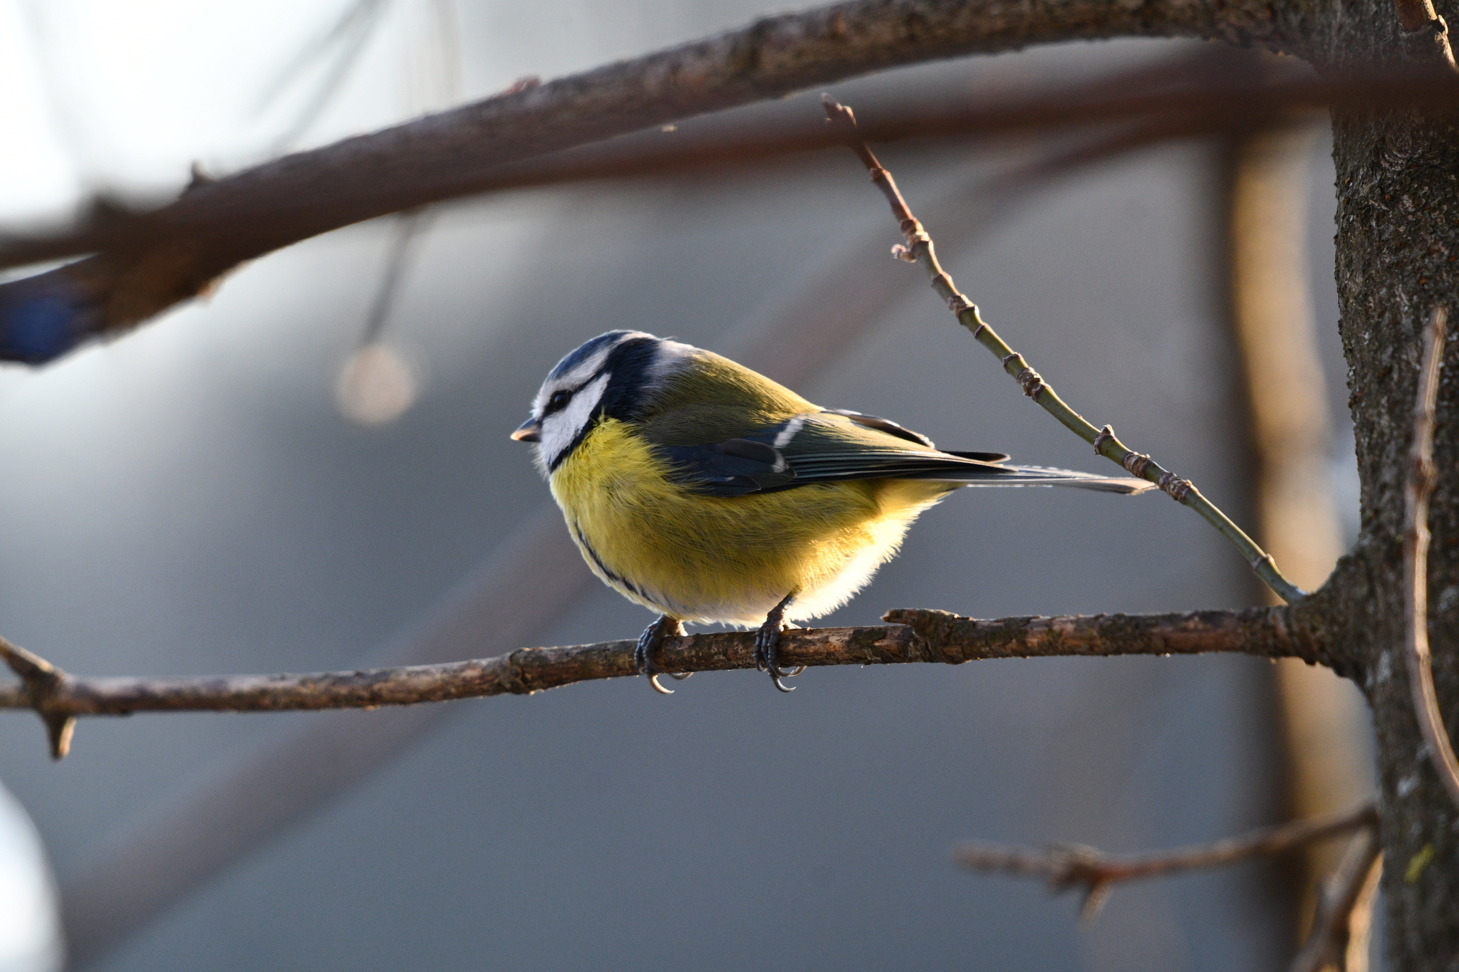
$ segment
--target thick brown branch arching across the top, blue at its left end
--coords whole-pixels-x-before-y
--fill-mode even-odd
[[[495,168],[871,71],[1030,44],[1202,36],[1297,50],[1297,17],[1233,0],[852,0],[368,136],[200,179],[152,235],[0,291],[7,357],[44,361],[197,296],[254,256],[341,226],[480,191]],[[229,233],[206,233],[225,224]]]

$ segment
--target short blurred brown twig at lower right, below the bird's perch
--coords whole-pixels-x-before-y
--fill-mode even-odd
[[[1242,836],[1230,836],[1212,844],[1182,847],[1157,854],[1106,854],[1093,847],[1056,844],[1043,851],[973,842],[957,848],[957,861],[978,871],[998,871],[1018,877],[1042,877],[1050,892],[1072,887],[1084,890],[1081,918],[1099,914],[1109,896],[1110,885],[1141,877],[1160,877],[1199,867],[1217,867],[1261,854],[1281,854],[1358,828],[1377,823],[1377,807],[1371,803],[1326,816],[1293,820],[1268,826]]]

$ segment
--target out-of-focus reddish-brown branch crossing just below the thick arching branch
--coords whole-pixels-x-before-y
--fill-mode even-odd
[[[1068,127],[1119,122],[1158,122],[1167,137],[1192,137],[1217,131],[1250,131],[1291,121],[1294,115],[1326,106],[1444,105],[1459,98],[1453,82],[1395,76],[1350,76],[1317,79],[1291,64],[1252,61],[1227,51],[1202,51],[1172,58],[1156,67],[1118,73],[1099,82],[1050,87],[1036,93],[969,101],[954,92],[919,92],[894,102],[870,96],[861,133],[867,141],[903,138],[978,140],[1027,131],[1058,131]],[[737,122],[697,122],[674,127],[673,137],[661,130],[610,138],[544,156],[530,163],[506,163],[481,173],[455,198],[502,189],[557,185],[585,179],[622,179],[652,175],[716,173],[732,166],[840,144],[829,131],[813,130],[798,119],[756,117]],[[322,149],[320,152],[324,152]],[[422,166],[427,165],[425,160]],[[200,179],[197,185],[207,184]],[[382,187],[388,189],[390,187]],[[349,192],[349,184],[341,187]],[[226,204],[226,208],[225,208]],[[324,191],[315,205],[346,207]],[[92,251],[128,249],[156,243],[163,232],[159,222],[172,204],[153,211],[133,211],[99,203],[85,224],[51,235],[0,236],[0,267],[61,259]],[[225,245],[214,236],[238,230],[239,200],[203,200],[191,211],[187,230],[204,249]],[[283,219],[289,219],[285,213]],[[353,222],[353,220],[352,220]],[[228,243],[232,245],[232,243]]]

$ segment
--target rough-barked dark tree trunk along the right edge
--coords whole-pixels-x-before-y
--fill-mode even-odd
[[[1443,7],[1446,4],[1440,4]],[[1459,10],[1449,6],[1449,19]],[[1440,9],[1440,13],[1444,13]],[[1332,67],[1395,51],[1424,67],[1389,0],[1348,0],[1331,12]],[[1377,734],[1383,893],[1390,969],[1459,969],[1459,813],[1428,762],[1409,702],[1402,654],[1404,481],[1421,332],[1436,303],[1459,312],[1459,130],[1417,112],[1339,112],[1336,284],[1350,407],[1363,482],[1363,533],[1325,592],[1331,632],[1367,694]],[[1434,459],[1440,471],[1430,526],[1430,621],[1434,676],[1449,727],[1459,726],[1459,360],[1439,392]]]

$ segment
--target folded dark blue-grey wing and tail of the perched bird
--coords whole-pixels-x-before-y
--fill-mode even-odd
[[[1141,493],[1150,484],[1069,469],[1002,465],[996,452],[943,452],[926,436],[886,418],[821,411],[741,439],[659,446],[674,478],[709,495],[744,495],[848,479],[935,479],[966,485],[1075,485]]]

